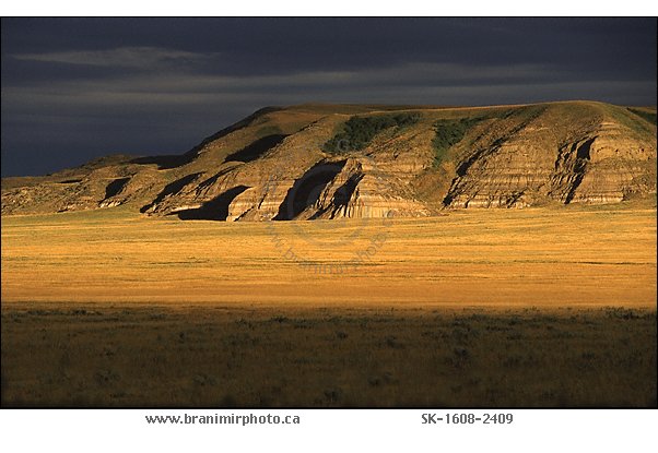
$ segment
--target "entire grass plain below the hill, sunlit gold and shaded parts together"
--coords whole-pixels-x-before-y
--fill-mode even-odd
[[[4,406],[656,405],[655,200],[3,217],[1,296]]]

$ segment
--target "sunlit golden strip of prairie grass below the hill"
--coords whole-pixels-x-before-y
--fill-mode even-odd
[[[120,208],[4,217],[1,295],[4,303],[655,308],[656,208],[279,223]]]

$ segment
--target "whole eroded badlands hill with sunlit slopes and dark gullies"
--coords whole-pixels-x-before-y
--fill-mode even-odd
[[[183,219],[425,216],[655,192],[655,109],[299,105],[258,110],[179,156],[4,178],[2,214],[125,204]]]

